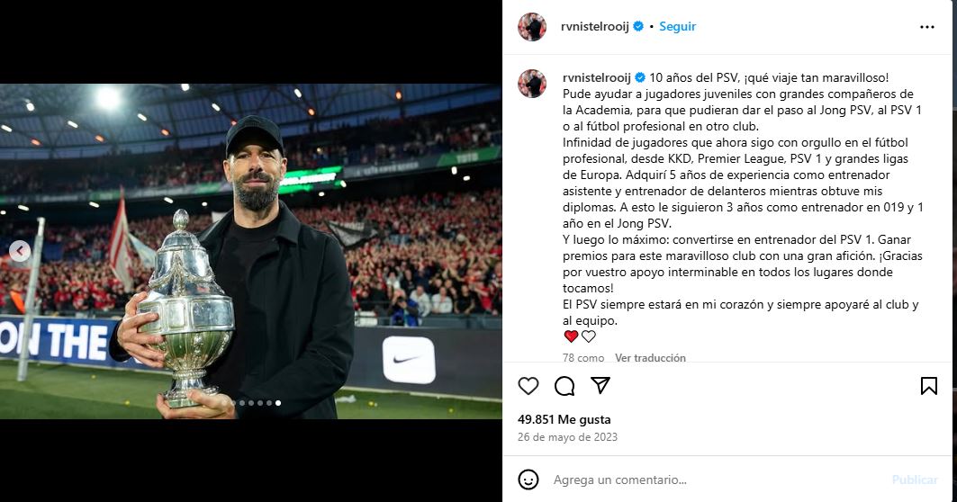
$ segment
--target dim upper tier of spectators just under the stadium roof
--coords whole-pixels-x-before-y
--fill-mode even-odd
[[[495,113],[449,124],[431,116],[368,120],[361,127],[285,140],[291,169],[328,165],[384,164],[501,143]],[[223,146],[132,155],[119,152],[93,159],[2,161],[0,194],[64,193],[104,186],[185,186],[223,180]],[[63,176],[70,172],[71,176]]]

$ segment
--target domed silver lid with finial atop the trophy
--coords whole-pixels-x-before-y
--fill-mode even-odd
[[[189,214],[177,209],[173,230],[156,251],[156,267],[149,278],[149,289],[158,295],[223,295],[215,283],[210,256],[196,236],[186,230]]]

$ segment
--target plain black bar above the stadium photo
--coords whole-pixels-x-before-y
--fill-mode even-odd
[[[128,17],[83,14],[104,16],[93,24],[69,14],[29,21],[35,13],[15,22],[10,12],[0,81],[501,82],[501,11],[493,5],[250,6],[212,11],[191,2],[182,10],[129,6],[144,11]],[[102,6],[111,9],[125,8]]]

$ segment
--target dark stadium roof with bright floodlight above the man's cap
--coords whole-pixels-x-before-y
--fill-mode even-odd
[[[104,87],[120,96],[114,110],[98,106],[97,95]],[[372,118],[501,100],[501,86],[490,84],[194,83],[185,88],[178,83],[2,84],[0,159],[143,153],[173,144],[213,146],[223,142],[232,120],[250,114],[276,121],[283,136],[296,136],[344,122],[360,125]]]

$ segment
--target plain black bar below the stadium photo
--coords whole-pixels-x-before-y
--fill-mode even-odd
[[[42,483],[34,489],[106,475],[132,492],[170,496],[216,492],[213,485],[222,482],[283,498],[501,497],[499,420],[11,420],[0,426],[20,443],[5,448],[11,463],[31,467],[18,469],[22,479]]]

